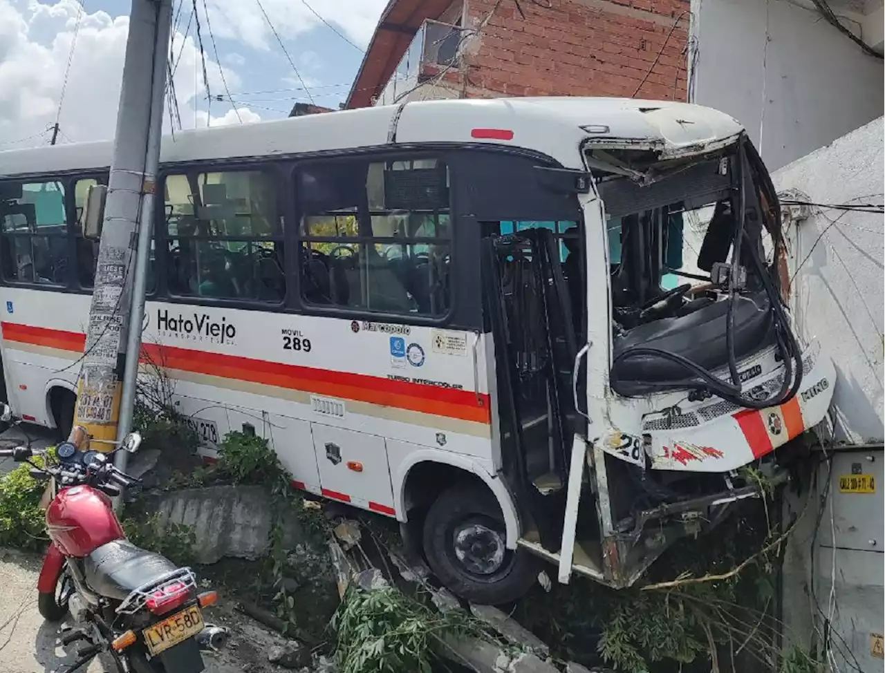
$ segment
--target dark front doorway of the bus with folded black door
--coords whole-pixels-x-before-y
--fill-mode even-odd
[[[575,193],[543,184],[532,157],[477,151],[460,168],[469,184],[458,183],[459,206],[475,218],[481,237],[501,469],[531,522],[527,528],[534,528],[527,533],[556,552],[573,437],[586,435],[573,396],[587,323],[581,207]]]

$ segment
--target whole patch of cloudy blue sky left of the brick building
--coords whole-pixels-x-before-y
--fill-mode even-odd
[[[210,110],[196,21],[190,19],[194,0],[174,0],[178,20],[173,59],[181,58],[174,82],[181,126],[276,119],[286,116],[293,103],[310,102],[311,97],[319,105],[337,107],[350,91],[362,50],[385,4],[386,0],[196,0],[208,88],[213,97],[224,98],[213,100]],[[78,0],[0,0],[0,149],[42,144],[46,128],[57,118],[62,141],[112,137],[128,11],[124,0],[83,0],[82,5]]]

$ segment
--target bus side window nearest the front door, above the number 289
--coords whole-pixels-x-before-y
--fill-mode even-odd
[[[304,168],[297,180],[305,301],[397,315],[449,311],[443,162],[329,162]]]

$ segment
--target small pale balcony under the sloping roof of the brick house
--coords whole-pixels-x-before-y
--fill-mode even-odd
[[[412,39],[409,49],[405,50],[375,104],[396,103],[421,82],[437,76],[445,68],[457,68],[463,35],[462,27],[427,19]]]

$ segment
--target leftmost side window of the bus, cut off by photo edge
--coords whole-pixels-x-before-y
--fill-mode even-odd
[[[65,186],[58,181],[0,185],[4,279],[65,285]]]

